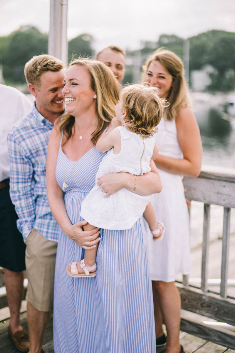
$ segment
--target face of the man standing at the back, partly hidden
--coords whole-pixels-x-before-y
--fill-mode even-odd
[[[105,49],[97,58],[98,61],[103,62],[115,74],[119,83],[122,82],[125,74],[125,57],[122,53],[116,50]]]

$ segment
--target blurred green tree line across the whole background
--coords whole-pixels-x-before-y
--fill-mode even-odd
[[[188,38],[190,41],[189,70],[200,70],[206,65],[210,73],[210,91],[229,91],[235,85],[235,33],[211,30]],[[76,36],[68,43],[68,60],[94,55],[94,38],[89,34]],[[141,55],[143,61],[156,48],[165,47],[183,58],[184,40],[176,35],[162,34],[157,41],[141,43],[139,50],[126,50],[129,57]],[[21,26],[8,36],[0,37],[0,64],[7,84],[24,83],[23,68],[33,55],[47,53],[48,35],[33,26]],[[143,64],[143,62],[142,62]],[[131,65],[124,80],[131,82]]]

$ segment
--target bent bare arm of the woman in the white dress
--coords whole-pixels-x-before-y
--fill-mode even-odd
[[[202,165],[202,142],[196,118],[190,108],[181,108],[175,119],[183,159],[158,155],[156,166],[171,174],[197,177]]]

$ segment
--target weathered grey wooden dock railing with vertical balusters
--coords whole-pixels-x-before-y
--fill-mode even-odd
[[[202,276],[201,286],[196,288],[190,285],[189,276],[183,276],[183,281],[178,283],[181,294],[182,309],[195,314],[214,319],[217,322],[235,326],[235,298],[228,297],[228,251],[230,240],[230,213],[235,208],[235,173],[234,170],[226,172],[202,171],[198,178],[184,178],[187,189],[186,198],[204,203],[203,242],[202,242]],[[216,294],[208,289],[208,263],[209,263],[209,231],[210,231],[210,206],[223,206],[223,234],[220,293]],[[234,268],[235,272],[235,268]],[[196,315],[197,317],[197,315]],[[212,323],[213,324],[213,323]],[[204,324],[197,319],[181,319],[181,330],[219,345],[235,349],[235,332],[220,326]],[[219,325],[218,325],[219,327]]]

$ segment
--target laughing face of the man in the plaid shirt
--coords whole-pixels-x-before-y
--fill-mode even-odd
[[[42,116],[53,122],[64,110],[62,88],[64,70],[46,71],[40,76],[39,86],[29,84],[30,92],[36,98],[36,108]]]

